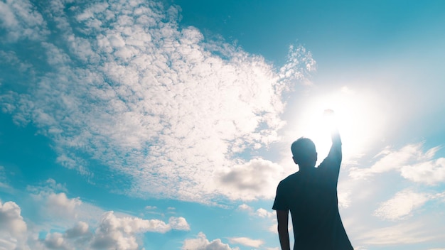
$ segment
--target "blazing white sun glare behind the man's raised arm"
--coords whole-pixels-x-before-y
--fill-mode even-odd
[[[323,117],[326,109],[334,111],[333,119]],[[342,87],[306,102],[297,126],[301,136],[311,138],[316,144],[318,160],[322,161],[331,148],[331,126],[336,124],[343,142],[343,161],[347,161],[362,155],[379,138],[380,113],[373,94]]]

